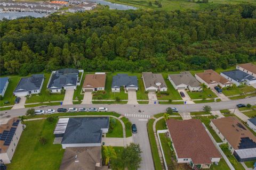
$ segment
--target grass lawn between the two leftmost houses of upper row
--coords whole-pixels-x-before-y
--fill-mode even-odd
[[[14,105],[15,96],[13,96],[13,91],[17,87],[20,79],[21,77],[18,75],[9,77],[9,84],[7,86],[3,99],[0,100],[0,106]],[[9,101],[10,103],[5,105],[5,101]]]

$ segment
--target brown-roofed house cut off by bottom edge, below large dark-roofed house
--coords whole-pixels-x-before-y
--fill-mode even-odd
[[[107,170],[108,166],[102,166],[101,146],[66,148],[60,170],[70,169]]]

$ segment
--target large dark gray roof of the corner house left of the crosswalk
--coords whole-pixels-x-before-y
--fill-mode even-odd
[[[101,143],[102,128],[109,128],[109,117],[69,118],[61,143]]]

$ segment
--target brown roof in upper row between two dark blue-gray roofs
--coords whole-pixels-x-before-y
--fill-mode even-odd
[[[86,74],[83,88],[105,87],[106,74]]]

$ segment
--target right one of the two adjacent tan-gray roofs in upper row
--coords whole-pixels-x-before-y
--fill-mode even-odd
[[[188,71],[180,72],[180,74],[169,74],[169,77],[176,86],[180,84],[190,85],[191,87],[199,87],[200,83],[196,78]]]

